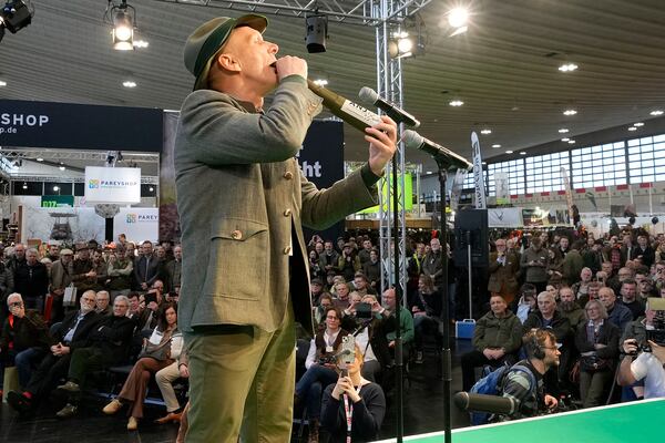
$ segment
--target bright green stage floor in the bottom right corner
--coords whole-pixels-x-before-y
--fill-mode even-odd
[[[452,443],[653,443],[663,442],[665,399],[564,412],[514,422],[452,431]],[[385,442],[395,442],[386,440]],[[406,442],[441,443],[443,432],[405,437]]]

